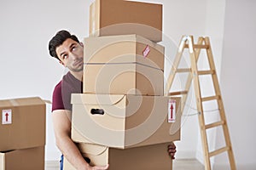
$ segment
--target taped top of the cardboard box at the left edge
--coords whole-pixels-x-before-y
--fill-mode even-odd
[[[39,97],[0,100],[0,107],[44,104],[44,100],[40,99]]]

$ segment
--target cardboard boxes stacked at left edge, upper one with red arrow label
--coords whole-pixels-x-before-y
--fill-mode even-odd
[[[0,170],[44,170],[44,101],[0,100],[0,111]]]

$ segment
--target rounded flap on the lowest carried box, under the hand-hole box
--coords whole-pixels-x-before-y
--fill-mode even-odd
[[[79,147],[80,152],[83,154],[90,154],[94,156],[100,156],[103,152],[108,150],[107,146],[99,145],[99,144],[84,144],[79,143],[77,144]]]

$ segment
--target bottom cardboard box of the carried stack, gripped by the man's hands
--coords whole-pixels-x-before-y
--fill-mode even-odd
[[[83,156],[90,158],[90,165],[109,164],[109,170],[170,170],[172,159],[166,151],[168,144],[154,144],[125,150],[97,144],[79,144],[79,150]],[[75,170],[65,158],[64,170]]]

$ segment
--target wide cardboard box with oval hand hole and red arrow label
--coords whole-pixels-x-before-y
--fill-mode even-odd
[[[75,142],[124,149],[180,139],[180,98],[72,94],[71,102]]]

